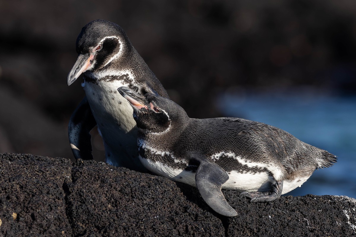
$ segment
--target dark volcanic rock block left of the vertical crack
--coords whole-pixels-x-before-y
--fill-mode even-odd
[[[0,154],[0,236],[71,236],[63,191],[71,168],[64,158]]]

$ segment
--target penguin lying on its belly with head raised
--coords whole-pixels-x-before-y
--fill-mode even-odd
[[[173,181],[196,186],[205,202],[224,216],[237,212],[221,188],[267,202],[300,187],[315,169],[336,156],[282,129],[241,118],[189,118],[168,98],[117,89],[133,107],[143,166]]]

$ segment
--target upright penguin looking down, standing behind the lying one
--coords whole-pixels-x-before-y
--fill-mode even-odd
[[[77,38],[78,59],[68,74],[68,86],[84,74],[86,97],[68,125],[74,157],[93,159],[90,130],[98,125],[104,141],[106,163],[146,171],[138,160],[137,128],[132,107],[117,88],[167,97],[162,84],[132,47],[122,28],[105,20],[83,27]]]

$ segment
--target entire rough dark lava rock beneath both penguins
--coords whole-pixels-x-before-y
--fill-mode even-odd
[[[356,236],[356,200],[283,196],[213,212],[197,189],[95,161],[0,154],[0,236]]]

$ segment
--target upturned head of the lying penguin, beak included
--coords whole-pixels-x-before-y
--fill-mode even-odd
[[[122,86],[117,89],[130,102],[137,127],[145,133],[163,133],[174,124],[184,124],[187,113],[168,98],[157,94],[140,95]]]

